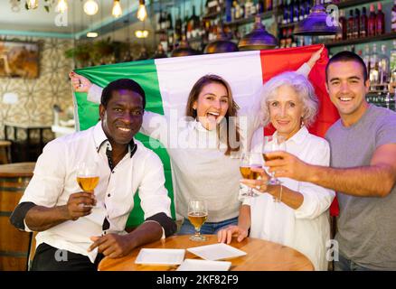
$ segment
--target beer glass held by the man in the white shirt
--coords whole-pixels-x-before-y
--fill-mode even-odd
[[[77,183],[82,191],[94,193],[99,182],[98,164],[94,162],[81,162],[77,168]],[[85,205],[87,206],[87,205]]]

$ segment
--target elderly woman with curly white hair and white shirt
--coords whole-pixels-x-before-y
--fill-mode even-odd
[[[324,138],[311,135],[306,128],[315,121],[318,107],[314,89],[306,77],[285,72],[269,79],[262,91],[262,125],[270,122],[276,128],[274,136],[283,135],[287,151],[304,162],[329,165],[329,144]],[[261,152],[262,144],[263,128],[260,127],[252,138],[252,150]],[[328,208],[335,191],[288,178],[269,184],[269,175],[263,169],[254,170],[261,178],[243,180],[243,183],[262,194],[243,201],[238,226],[222,229],[218,233],[219,242],[230,243],[232,236],[241,241],[250,230],[250,237],[293,247],[306,255],[316,270],[327,270]]]

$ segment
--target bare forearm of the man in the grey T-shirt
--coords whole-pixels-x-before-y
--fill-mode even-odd
[[[396,182],[395,172],[387,164],[345,169],[311,165],[306,181],[356,197],[385,197]]]

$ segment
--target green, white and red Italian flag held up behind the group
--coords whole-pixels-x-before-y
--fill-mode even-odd
[[[281,72],[297,70],[310,59],[315,51],[321,48],[322,45],[311,45],[289,49],[133,61],[84,68],[76,72],[102,88],[116,79],[134,79],[146,92],[146,110],[167,115],[171,109],[176,109],[178,116],[184,116],[189,92],[196,80],[205,74],[216,74],[226,79],[231,85],[232,95],[237,104],[240,107],[250,107],[257,101],[259,90],[265,81]],[[327,128],[338,118],[337,111],[325,90],[327,61],[327,51],[324,50],[308,77],[320,101],[316,124],[310,128],[310,132],[320,136],[324,136]],[[87,100],[86,93],[74,93],[74,106],[78,130],[87,129],[98,122],[99,104]],[[272,127],[266,127],[266,134],[272,132]],[[136,137],[149,147],[149,136],[138,134]],[[165,148],[153,150],[164,163],[165,187],[171,200],[174,200],[169,156]],[[143,212],[137,194],[135,201],[127,226],[137,226],[143,221]],[[172,202],[171,210],[175,217],[174,202]]]

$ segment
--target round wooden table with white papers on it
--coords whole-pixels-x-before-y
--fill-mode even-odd
[[[205,235],[206,241],[191,241],[189,235],[172,236],[147,244],[145,248],[189,248],[217,243],[217,235]],[[231,271],[312,271],[311,261],[297,250],[265,241],[259,238],[246,238],[240,243],[232,238],[232,247],[248,253],[229,259]],[[105,257],[99,263],[99,271],[174,271],[178,266],[148,266],[135,264],[135,259],[142,247],[137,247],[128,256],[111,259]],[[184,259],[200,259],[199,256],[185,251]]]

